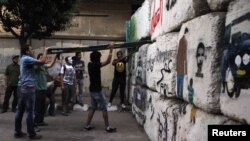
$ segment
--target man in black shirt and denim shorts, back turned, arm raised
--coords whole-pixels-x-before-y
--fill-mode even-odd
[[[103,114],[103,119],[105,122],[105,131],[108,133],[116,132],[116,128],[111,128],[108,121],[107,103],[105,96],[102,93],[101,85],[101,68],[108,65],[112,58],[113,44],[109,45],[110,51],[106,61],[101,62],[101,53],[98,51],[93,51],[90,54],[90,61],[88,64],[88,72],[90,78],[90,96],[91,96],[91,109],[88,113],[87,124],[84,127],[86,130],[91,130],[94,126],[90,125],[91,120],[94,116],[96,109],[101,109]]]

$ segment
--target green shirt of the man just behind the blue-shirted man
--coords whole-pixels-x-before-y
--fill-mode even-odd
[[[36,90],[47,90],[46,69],[48,69],[47,64],[36,66]]]

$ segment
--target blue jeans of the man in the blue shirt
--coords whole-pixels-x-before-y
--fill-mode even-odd
[[[27,111],[26,124],[29,136],[36,135],[34,130],[34,108],[35,108],[35,88],[24,89],[20,88],[18,98],[18,106],[15,117],[15,133],[22,132],[22,119],[25,110]]]

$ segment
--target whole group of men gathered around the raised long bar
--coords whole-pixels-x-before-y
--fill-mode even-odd
[[[108,133],[116,132],[109,124],[108,106],[111,106],[115,93],[120,86],[121,106],[124,105],[124,91],[126,87],[126,62],[128,57],[123,57],[121,51],[117,52],[117,59],[113,60],[114,79],[112,84],[112,92],[107,104],[105,96],[102,92],[101,84],[101,68],[110,64],[113,52],[113,43],[109,44],[109,55],[105,61],[101,61],[101,53],[93,51],[90,54],[90,62],[88,63],[88,72],[90,79],[89,92],[91,97],[91,106],[89,108],[88,118],[84,129],[92,130],[92,118],[96,110],[101,110],[105,124],[105,131]],[[7,66],[5,71],[5,97],[1,113],[5,113],[9,108],[9,100],[13,94],[12,112],[15,112],[15,130],[14,137],[22,138],[29,136],[30,139],[41,139],[42,136],[37,134],[40,132],[39,126],[48,126],[44,121],[46,114],[46,98],[49,99],[49,115],[55,116],[55,97],[54,93],[57,87],[62,89],[62,112],[63,116],[71,113],[72,106],[83,103],[83,82],[85,63],[81,60],[81,52],[76,52],[74,57],[67,56],[65,64],[61,64],[60,73],[54,80],[52,87],[47,86],[48,79],[51,76],[48,68],[52,67],[59,55],[56,55],[50,63],[47,63],[48,48],[43,53],[39,53],[35,58],[35,52],[30,45],[25,45],[21,49],[20,65],[19,55],[12,57],[12,63]],[[62,63],[62,62],[61,62]],[[76,93],[78,89],[78,93]],[[22,131],[22,118],[27,113],[27,133]]]

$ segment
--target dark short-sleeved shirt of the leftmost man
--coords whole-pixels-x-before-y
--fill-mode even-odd
[[[17,86],[18,79],[20,74],[20,65],[19,64],[10,64],[5,70],[5,75],[8,76],[8,86]]]

